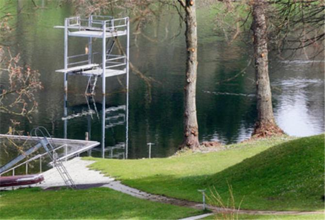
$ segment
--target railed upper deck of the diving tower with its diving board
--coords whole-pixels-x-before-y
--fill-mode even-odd
[[[128,17],[114,19],[111,16],[80,16],[65,18],[64,26],[54,28],[68,29],[69,36],[109,38],[127,35]],[[104,34],[105,32],[105,34]]]

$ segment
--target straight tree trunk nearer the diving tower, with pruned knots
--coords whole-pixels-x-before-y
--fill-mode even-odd
[[[197,73],[197,31],[195,0],[183,2],[186,23],[186,76],[184,87],[184,139],[181,147],[199,146],[196,119],[196,73]]]

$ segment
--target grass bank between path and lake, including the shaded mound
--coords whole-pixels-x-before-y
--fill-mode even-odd
[[[324,135],[248,141],[208,154],[97,160],[91,168],[146,192],[201,202],[214,186],[224,201],[227,182],[242,209],[322,210]],[[209,194],[209,193],[208,193]]]

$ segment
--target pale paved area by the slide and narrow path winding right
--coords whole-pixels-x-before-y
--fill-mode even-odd
[[[200,203],[187,201],[187,200],[181,200],[181,199],[175,199],[170,198],[162,195],[155,195],[150,194],[138,189],[134,189],[131,187],[128,187],[124,184],[122,184],[120,181],[115,181],[114,178],[104,176],[102,173],[94,170],[90,170],[87,168],[88,165],[94,163],[95,161],[90,160],[82,160],[80,157],[76,157],[72,160],[69,160],[67,162],[64,162],[65,167],[69,174],[71,175],[72,179],[74,180],[76,185],[84,186],[84,185],[90,185],[90,186],[102,186],[107,187],[110,189],[114,189],[116,191],[120,191],[126,194],[129,194],[131,196],[140,198],[140,199],[146,199],[153,202],[160,202],[165,204],[173,204],[173,205],[179,205],[179,206],[185,206],[195,209],[202,209],[203,205]],[[57,186],[64,186],[64,181],[62,180],[60,174],[57,172],[56,169],[50,169],[47,172],[43,173],[45,181],[37,185],[37,187],[42,188],[50,188],[50,187],[57,187]],[[215,207],[211,205],[206,205],[208,209],[210,209],[213,212],[233,212],[232,209],[224,209],[220,207]],[[238,213],[241,214],[260,214],[260,215],[306,215],[306,214],[322,214],[324,212],[322,211],[313,211],[313,212],[302,212],[302,211],[266,211],[266,210],[239,210]],[[205,214],[207,215],[207,214]],[[211,215],[211,214],[210,214]],[[186,220],[189,219],[200,219],[204,218],[205,216],[194,216],[186,218]]]

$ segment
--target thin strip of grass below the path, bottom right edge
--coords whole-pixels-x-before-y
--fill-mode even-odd
[[[246,215],[241,214],[238,215],[238,219],[240,220],[250,220],[250,219],[267,219],[267,220],[324,220],[324,214],[311,214],[311,215]],[[208,216],[203,218],[204,220],[212,220],[212,219],[225,219],[221,214],[216,216]],[[202,220],[203,220],[202,219]],[[237,219],[237,216],[235,216]]]

